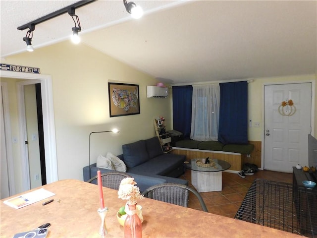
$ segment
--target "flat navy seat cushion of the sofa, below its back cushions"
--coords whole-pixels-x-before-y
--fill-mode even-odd
[[[162,154],[136,167],[129,168],[128,173],[139,175],[166,175],[182,166],[186,156]]]

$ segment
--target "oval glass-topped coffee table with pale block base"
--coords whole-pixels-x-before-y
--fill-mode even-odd
[[[196,162],[202,159],[192,159],[188,168],[192,170],[192,184],[198,192],[211,192],[222,190],[222,171],[230,168],[230,164],[223,160],[210,159],[214,166],[202,167]],[[212,173],[211,173],[212,172]]]

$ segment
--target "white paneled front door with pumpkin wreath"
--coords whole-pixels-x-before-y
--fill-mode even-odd
[[[312,84],[265,85],[264,104],[264,169],[292,172],[308,165]]]

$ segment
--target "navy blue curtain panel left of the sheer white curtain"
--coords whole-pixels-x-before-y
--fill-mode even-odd
[[[184,138],[190,138],[192,124],[192,86],[175,86],[173,92],[173,124],[174,130],[183,133]]]

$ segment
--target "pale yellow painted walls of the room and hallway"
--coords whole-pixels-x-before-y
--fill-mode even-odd
[[[169,88],[169,96],[166,99],[147,98],[147,85],[156,85],[160,82],[156,75],[153,76],[138,70],[87,44],[75,46],[70,41],[64,40],[46,47],[39,47],[31,54],[23,52],[7,56],[5,59],[1,58],[1,63],[38,67],[41,69],[41,75],[51,75],[52,77],[54,118],[54,132],[52,133],[55,137],[53,147],[56,149],[54,162],[56,164],[54,172],[56,180],[82,180],[82,168],[88,165],[89,133],[92,131],[110,130],[114,127],[120,130],[118,134],[96,135],[92,139],[91,158],[92,162],[96,162],[99,154],[111,152],[118,155],[122,153],[121,146],[123,144],[153,137],[155,135],[153,119],[159,116],[164,116],[168,129],[173,128],[171,88]],[[15,105],[10,108],[11,134],[12,137],[20,138],[17,121],[18,110],[17,103],[15,103],[16,82],[20,79],[13,80],[9,79],[8,76],[3,78],[2,75],[1,71],[1,82],[7,82],[10,102]],[[253,82],[248,85],[248,116],[254,122],[260,122],[260,127],[249,128],[249,140],[258,142],[263,140],[264,84],[312,82],[315,85],[313,91],[316,92],[316,77],[316,70],[315,72],[307,71],[290,76],[285,74],[284,76],[253,77]],[[240,77],[236,79],[240,79]],[[110,118],[108,82],[138,84],[140,114]],[[199,82],[193,80],[190,83]],[[214,82],[219,82],[219,80]],[[168,82],[165,84],[172,85]],[[313,98],[315,99],[313,105],[316,107],[317,98],[315,95]],[[315,118],[317,117],[316,113],[315,109]],[[313,126],[316,135],[316,120]],[[22,142],[24,143],[24,141],[18,140],[17,143],[12,144],[16,193],[26,190],[21,177],[23,163],[20,161],[20,146]]]

